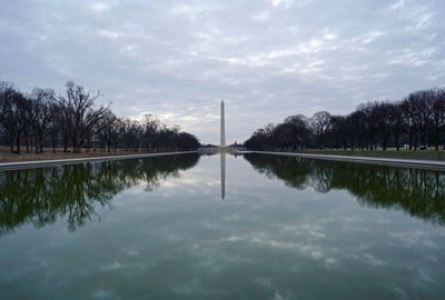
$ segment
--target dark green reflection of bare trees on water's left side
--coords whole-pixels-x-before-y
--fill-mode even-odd
[[[83,226],[98,206],[135,184],[146,191],[167,177],[194,167],[199,154],[111,160],[0,172],[0,234],[31,222],[36,227],[68,219],[69,230]]]

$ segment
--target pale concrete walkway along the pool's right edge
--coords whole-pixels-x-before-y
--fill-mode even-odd
[[[438,160],[412,160],[412,159],[369,158],[369,157],[327,156],[327,154],[325,156],[325,154],[307,154],[307,153],[273,152],[273,151],[250,151],[250,152],[261,153],[261,154],[308,158],[308,159],[347,161],[347,162],[368,163],[368,164],[445,170],[445,161],[438,161]]]

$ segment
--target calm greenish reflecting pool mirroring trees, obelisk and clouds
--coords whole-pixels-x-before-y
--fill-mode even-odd
[[[182,154],[0,172],[0,299],[444,299],[445,172]]]

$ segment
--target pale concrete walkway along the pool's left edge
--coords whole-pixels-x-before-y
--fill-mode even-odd
[[[140,159],[140,158],[176,156],[176,154],[197,153],[197,152],[198,151],[160,152],[160,153],[145,153],[145,154],[129,154],[129,156],[0,162],[0,171],[11,170],[11,169],[41,168],[55,164],[75,164],[75,163],[83,163],[83,162],[101,161],[101,160]]]

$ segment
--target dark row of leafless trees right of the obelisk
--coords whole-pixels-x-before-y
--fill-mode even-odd
[[[370,101],[347,116],[318,111],[291,116],[256,130],[245,141],[253,150],[425,149],[445,142],[445,89],[409,93],[398,101]],[[444,147],[445,150],[445,147]]]

